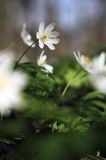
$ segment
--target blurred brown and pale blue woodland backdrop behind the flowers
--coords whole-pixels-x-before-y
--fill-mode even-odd
[[[55,57],[73,50],[94,52],[106,42],[105,9],[105,0],[1,0],[0,49],[9,47],[20,55],[27,47],[20,38],[23,23],[35,38],[40,22],[55,22],[61,33]],[[30,52],[37,51],[31,49],[28,57]]]

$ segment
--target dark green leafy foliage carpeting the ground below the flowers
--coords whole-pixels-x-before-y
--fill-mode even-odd
[[[29,75],[25,109],[1,117],[1,160],[105,160],[105,96],[71,57],[54,67],[47,75],[35,63],[18,64]]]

